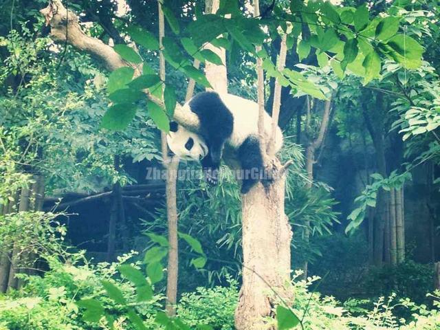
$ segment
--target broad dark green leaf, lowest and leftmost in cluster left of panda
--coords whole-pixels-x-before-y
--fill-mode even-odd
[[[100,127],[112,131],[122,131],[135,118],[136,109],[135,104],[132,103],[114,104],[102,117]]]

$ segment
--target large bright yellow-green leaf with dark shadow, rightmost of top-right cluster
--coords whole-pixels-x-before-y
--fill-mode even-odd
[[[394,60],[408,69],[417,69],[421,65],[423,47],[410,36],[397,34],[388,40],[386,45],[391,48]]]

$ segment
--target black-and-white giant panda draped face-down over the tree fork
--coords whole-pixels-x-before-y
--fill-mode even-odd
[[[170,123],[168,146],[175,155],[186,159],[200,159],[210,184],[217,184],[217,171],[223,147],[227,144],[236,153],[244,174],[241,193],[246,194],[262,178],[264,165],[261,155],[256,102],[232,94],[206,91],[195,95],[184,104],[184,111],[192,111],[199,118],[199,133],[195,134],[177,122]],[[270,140],[272,118],[264,114],[265,140]],[[276,126],[275,151],[283,145],[283,134]]]

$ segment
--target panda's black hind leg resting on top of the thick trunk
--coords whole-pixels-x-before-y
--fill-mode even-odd
[[[239,148],[241,193],[246,194],[263,178],[264,164],[258,137],[249,136]]]

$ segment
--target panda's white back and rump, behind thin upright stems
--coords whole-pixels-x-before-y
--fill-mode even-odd
[[[259,133],[259,104],[232,94],[219,94],[219,96],[234,117],[234,127],[228,144],[238,148],[249,135],[258,135]],[[272,118],[267,112],[264,113],[264,129],[265,139],[268,141],[272,132]],[[283,146],[283,133],[276,126],[275,150],[279,151],[281,146]]]

